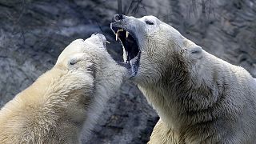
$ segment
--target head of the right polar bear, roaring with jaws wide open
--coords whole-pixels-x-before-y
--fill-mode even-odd
[[[200,46],[154,16],[134,18],[116,14],[111,29],[122,42],[130,77],[138,84],[171,78],[166,74],[183,77],[190,63],[202,57]]]

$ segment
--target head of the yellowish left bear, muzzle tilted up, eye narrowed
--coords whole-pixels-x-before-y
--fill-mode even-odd
[[[127,72],[108,54],[106,42],[104,35],[92,34],[86,40],[77,39],[66,46],[53,68],[64,75],[62,83],[68,87],[63,86],[63,90],[76,92],[85,86],[93,97],[114,95]]]

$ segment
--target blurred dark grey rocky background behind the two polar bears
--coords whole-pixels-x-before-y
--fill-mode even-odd
[[[0,106],[54,66],[76,38],[106,35],[108,51],[121,60],[111,18],[117,0],[0,0]],[[122,13],[157,16],[204,50],[256,76],[256,1],[123,0]],[[158,116],[130,82],[110,99],[83,143],[146,143]]]

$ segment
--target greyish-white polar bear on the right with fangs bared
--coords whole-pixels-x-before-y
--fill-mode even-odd
[[[160,119],[149,143],[256,143],[256,82],[154,16],[114,15],[130,79]]]

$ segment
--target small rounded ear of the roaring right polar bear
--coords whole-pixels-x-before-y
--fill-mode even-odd
[[[197,45],[192,45],[186,47],[186,54],[189,55],[190,58],[199,59],[202,58],[202,47]]]

